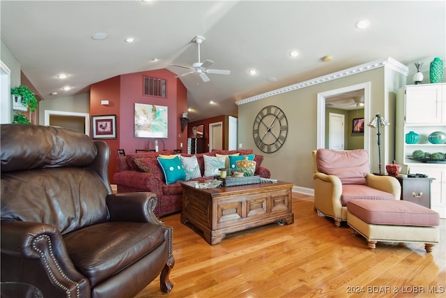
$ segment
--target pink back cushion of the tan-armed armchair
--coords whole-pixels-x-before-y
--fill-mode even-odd
[[[363,149],[337,151],[318,149],[316,165],[319,172],[334,175],[342,184],[367,184],[369,154]]]

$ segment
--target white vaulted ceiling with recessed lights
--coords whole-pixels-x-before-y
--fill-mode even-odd
[[[410,75],[414,62],[426,71],[446,52],[445,1],[1,0],[0,10],[1,40],[44,99],[56,97],[53,91],[84,93],[125,73],[185,73],[169,64],[197,62],[191,40],[204,36],[201,61],[231,75],[210,74],[199,84],[195,75],[181,77],[193,120],[236,115],[236,100],[387,57],[409,66]],[[355,29],[364,17],[371,27]],[[98,32],[109,37],[92,40]],[[123,42],[128,36],[136,41]],[[290,50],[300,56],[289,57]],[[325,55],[332,61],[323,62]],[[258,74],[250,76],[249,68]],[[59,73],[68,79],[57,79]],[[65,85],[73,89],[61,90]]]

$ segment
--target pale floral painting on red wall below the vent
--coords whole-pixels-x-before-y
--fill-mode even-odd
[[[134,137],[167,137],[167,107],[134,104]]]

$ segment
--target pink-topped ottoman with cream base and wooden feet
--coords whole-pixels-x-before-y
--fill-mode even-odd
[[[422,242],[430,253],[440,237],[439,214],[408,201],[350,200],[347,223],[367,239],[371,249],[377,241]]]

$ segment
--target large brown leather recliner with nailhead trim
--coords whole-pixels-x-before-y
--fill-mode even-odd
[[[44,297],[134,297],[173,287],[172,228],[153,193],[112,194],[109,147],[63,128],[1,125],[1,281]]]

